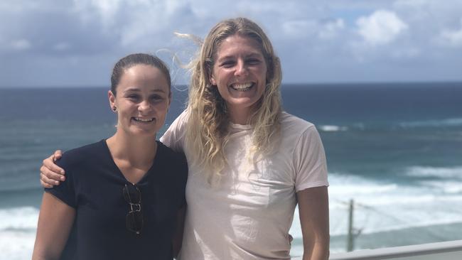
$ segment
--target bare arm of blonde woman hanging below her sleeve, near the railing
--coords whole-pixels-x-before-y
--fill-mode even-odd
[[[296,195],[303,235],[303,260],[327,260],[330,239],[327,187],[308,188]]]

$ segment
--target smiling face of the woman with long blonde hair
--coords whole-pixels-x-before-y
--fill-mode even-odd
[[[227,104],[230,118],[246,124],[266,87],[267,63],[257,40],[238,34],[222,40],[210,83]]]

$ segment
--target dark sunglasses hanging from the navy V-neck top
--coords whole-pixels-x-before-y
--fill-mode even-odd
[[[125,222],[127,229],[136,234],[141,234],[141,228],[143,228],[143,215],[141,214],[141,192],[136,185],[132,183],[125,184],[122,188],[124,199],[129,203],[130,210],[127,213]]]

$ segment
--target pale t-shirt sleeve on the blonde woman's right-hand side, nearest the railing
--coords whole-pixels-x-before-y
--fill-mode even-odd
[[[304,131],[294,150],[295,191],[328,186],[326,153],[316,127]]]

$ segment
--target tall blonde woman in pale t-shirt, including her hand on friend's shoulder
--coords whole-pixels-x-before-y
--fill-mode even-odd
[[[262,28],[217,23],[192,71],[188,107],[161,137],[188,160],[180,258],[290,259],[298,203],[303,259],[328,259],[323,145],[313,124],[282,111],[281,65]],[[43,185],[60,170],[46,159]]]

